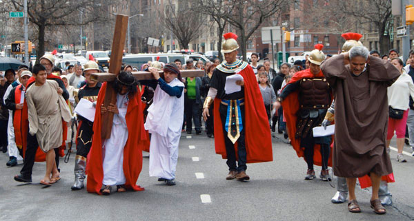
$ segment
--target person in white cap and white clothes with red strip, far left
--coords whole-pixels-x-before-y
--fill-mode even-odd
[[[28,71],[26,65],[22,65],[17,71],[17,76],[19,76],[19,78],[17,78],[17,80],[9,86],[11,90],[6,92],[4,95],[4,103],[9,109],[8,151],[10,159],[6,163],[6,166],[8,167],[14,167],[17,165],[17,160],[23,160],[23,149],[21,148],[21,112],[23,109],[26,84],[28,79],[32,76],[32,73]],[[17,85],[12,87],[14,84]],[[19,147],[19,149],[17,147]]]

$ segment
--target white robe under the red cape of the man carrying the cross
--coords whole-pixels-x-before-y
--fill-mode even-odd
[[[124,185],[124,147],[128,140],[126,126],[126,110],[128,108],[128,94],[117,94],[119,114],[114,114],[110,138],[103,142],[103,185]]]

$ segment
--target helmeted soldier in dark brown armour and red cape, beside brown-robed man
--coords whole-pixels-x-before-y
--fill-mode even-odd
[[[313,128],[322,124],[332,102],[331,87],[319,67],[325,59],[323,47],[315,45],[308,57],[310,67],[293,75],[277,98],[276,105],[277,108],[283,105],[290,142],[297,156],[304,156],[308,165],[305,180],[315,178],[314,164],[322,166],[319,176],[322,180],[331,180],[328,171],[331,136],[313,137]]]

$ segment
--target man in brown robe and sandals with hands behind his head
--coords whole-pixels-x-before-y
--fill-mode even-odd
[[[349,63],[349,65],[344,65]],[[356,179],[368,174],[373,184],[371,207],[385,213],[378,189],[381,176],[393,172],[386,151],[387,87],[400,76],[391,65],[362,46],[352,48],[321,65],[335,96],[333,171],[346,178],[348,210],[360,212],[355,197]]]

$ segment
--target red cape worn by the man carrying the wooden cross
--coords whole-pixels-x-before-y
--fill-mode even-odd
[[[88,154],[86,173],[88,173],[88,182],[86,189],[90,193],[100,193],[103,180],[103,158],[102,158],[102,138],[101,138],[101,105],[105,98],[107,83],[103,83],[99,90],[97,100],[97,110],[93,123],[92,147]],[[124,147],[124,174],[126,177],[125,186],[134,191],[142,191],[144,188],[139,187],[136,182],[142,169],[142,146],[148,142],[144,129],[143,105],[141,102],[141,93],[138,91],[135,96],[129,97],[128,109],[126,112],[126,125],[128,127],[128,140]]]

